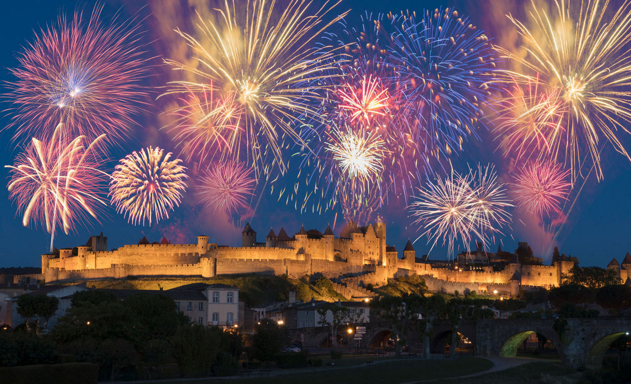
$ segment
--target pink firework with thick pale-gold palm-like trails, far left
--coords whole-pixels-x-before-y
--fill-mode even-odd
[[[41,225],[50,233],[53,249],[56,228],[66,234],[90,217],[99,220],[107,205],[107,174],[99,171],[104,159],[97,147],[105,135],[68,140],[59,124],[49,140],[33,138],[9,168],[9,198],[16,201],[22,224]]]

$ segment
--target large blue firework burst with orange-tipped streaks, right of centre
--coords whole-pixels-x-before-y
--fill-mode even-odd
[[[397,123],[428,157],[463,150],[466,136],[485,127],[482,107],[494,87],[487,36],[452,9],[389,18],[397,26],[391,54],[396,69],[391,80],[401,93]]]

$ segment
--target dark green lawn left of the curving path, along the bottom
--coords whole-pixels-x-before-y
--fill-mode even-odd
[[[365,361],[365,358],[362,358]],[[336,364],[344,364],[344,359],[336,361]],[[300,384],[323,384],[323,383],[406,383],[416,380],[433,380],[449,378],[461,375],[469,375],[485,371],[492,368],[493,363],[478,357],[466,357],[456,361],[447,360],[399,360],[382,361],[374,359],[372,366],[348,366],[344,368],[333,368],[330,366],[322,368],[301,369],[296,373],[285,373],[288,371],[279,370],[283,375],[256,378],[239,378],[231,380],[221,380],[211,378],[209,380],[182,380],[182,381],[162,381],[161,384],[203,384],[203,383],[256,383],[256,384],[278,384],[278,383],[300,383]],[[339,363],[338,363],[339,362]],[[271,374],[274,375],[274,370]],[[459,382],[461,384],[461,381]]]

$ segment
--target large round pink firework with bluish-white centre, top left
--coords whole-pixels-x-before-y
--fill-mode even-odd
[[[103,23],[102,9],[94,8],[88,20],[79,11],[72,21],[60,15],[18,56],[20,66],[10,69],[16,80],[5,95],[14,140],[35,132],[50,136],[58,123],[71,136],[106,133],[112,143],[129,135],[148,94],[141,82],[150,65],[136,20],[117,23],[115,16]]]

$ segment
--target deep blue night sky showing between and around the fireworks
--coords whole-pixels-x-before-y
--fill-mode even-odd
[[[0,35],[3,36],[0,42],[2,49],[0,50],[0,81],[11,80],[7,68],[17,65],[16,53],[20,51],[21,46],[33,37],[33,30],[37,30],[38,26],[45,25],[54,21],[60,11],[70,15],[75,7],[79,4],[74,1],[42,1],[33,4],[29,1],[11,1],[3,4],[3,12],[0,15]],[[112,15],[123,4],[121,1],[106,3],[104,15]],[[428,2],[428,1],[350,1],[346,0],[339,9],[351,8],[353,11],[348,17],[349,24],[352,20],[357,20],[357,16],[365,11],[374,13],[389,12],[398,13],[401,9],[410,9],[420,11],[424,6],[430,9],[440,6],[449,5],[444,1]],[[505,18],[501,9],[498,9],[492,1],[476,2],[476,1],[459,1],[456,3],[460,13],[466,13],[471,20],[479,28],[487,31],[487,35],[492,39],[495,37],[503,37],[511,35],[507,30]],[[155,4],[154,4],[155,6]],[[91,5],[87,5],[88,8]],[[123,8],[124,15],[129,15],[137,10],[138,4],[127,4]],[[387,8],[386,8],[387,7]],[[149,8],[145,8],[141,13],[148,13]],[[512,10],[516,12],[517,10]],[[151,17],[148,16],[147,28],[151,28]],[[176,27],[174,25],[174,27]],[[156,36],[149,31],[146,35],[147,42],[156,39]],[[499,39],[498,39],[499,40]],[[157,42],[155,44],[160,44]],[[153,45],[150,45],[153,47]],[[153,54],[159,54],[156,49]],[[155,59],[155,64],[159,64],[160,59]],[[156,77],[160,76],[160,71],[156,70]],[[154,78],[152,81],[160,83],[160,78]],[[7,105],[4,105],[6,108]],[[3,108],[3,109],[4,109]],[[160,145],[167,150],[177,153],[176,148],[168,141],[162,131],[158,131],[155,127],[158,125],[156,114],[157,107],[148,107],[145,116],[139,116],[138,121],[143,128],[137,128],[138,135],[135,135],[129,142],[124,143],[123,148],[112,153],[112,159],[119,159],[132,150],[139,149],[143,145]],[[0,119],[0,126],[6,126],[8,119],[3,117]],[[485,135],[482,135],[483,138]],[[14,148],[10,141],[11,132],[3,131],[0,133],[0,140],[3,146],[0,147],[0,160],[2,164],[13,164],[18,149]],[[628,140],[625,141],[628,148]],[[467,147],[466,154],[462,159],[479,160],[481,162],[499,161],[500,156],[493,153],[495,144],[489,143],[488,140],[480,142],[471,142]],[[458,161],[458,160],[456,160]],[[463,161],[464,164],[464,161]],[[8,172],[2,169],[4,187],[0,188],[0,244],[3,249],[0,251],[0,267],[11,266],[35,266],[40,265],[40,255],[45,253],[49,247],[49,234],[42,229],[25,228],[21,224],[21,217],[16,217],[15,206],[8,200],[8,192],[6,190],[6,179]],[[604,267],[612,257],[622,259],[627,251],[631,251],[631,223],[628,219],[631,212],[631,199],[628,191],[631,189],[631,164],[622,155],[617,153],[605,153],[603,159],[604,181],[594,183],[589,181],[582,191],[577,205],[570,212],[569,219],[563,231],[558,238],[558,244],[561,251],[569,253],[572,256],[578,256],[582,265],[599,265]],[[184,196],[185,201],[187,196]],[[399,251],[403,249],[405,241],[408,237],[415,239],[418,233],[408,225],[411,220],[407,217],[403,210],[404,205],[392,204],[382,210],[384,220],[388,224],[388,243],[396,246]],[[283,201],[278,202],[276,198],[269,195],[269,189],[264,191],[264,198],[259,204],[256,215],[252,219],[252,227],[264,237],[269,231],[269,227],[273,226],[274,231],[278,232],[281,225],[291,235],[300,229],[301,224],[305,227],[317,228],[321,231],[326,228],[327,224],[333,224],[334,212],[323,213],[322,216],[315,214],[299,215],[298,212],[291,207],[286,207]],[[166,236],[171,241],[194,242],[195,236],[198,234],[207,234],[211,237],[211,241],[220,244],[240,244],[240,229],[230,229],[226,226],[224,229],[217,229],[214,225],[209,225],[213,218],[207,217],[203,211],[197,207],[184,203],[180,206],[171,219],[154,225],[153,227],[138,227],[127,224],[126,220],[113,209],[109,211],[109,218],[104,218],[102,224],[94,222],[92,227],[80,228],[78,233],[66,236],[61,234],[56,237],[56,246],[67,247],[76,246],[85,243],[91,234],[103,232],[109,237],[109,248],[117,248],[123,244],[136,243],[140,237],[146,235],[151,241],[159,240],[162,236]],[[339,221],[339,219],[338,219]],[[240,227],[244,223],[236,223],[236,227]],[[338,223],[336,234],[339,233],[341,225]],[[512,231],[502,240],[502,248],[512,250],[516,248],[517,241],[527,240],[532,244],[542,243],[540,237],[536,235],[538,229],[533,227],[524,227],[524,224],[517,222],[513,225]],[[429,247],[425,244],[426,239],[421,238],[415,243],[417,255],[427,253]],[[543,241],[545,243],[545,241]],[[547,247],[548,244],[538,244],[533,249]],[[497,244],[491,245],[490,249],[497,249]],[[536,251],[537,253],[537,251]],[[539,255],[546,256],[549,255]],[[434,248],[430,254],[431,258],[444,259],[446,257],[444,248]]]

